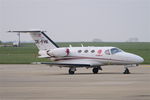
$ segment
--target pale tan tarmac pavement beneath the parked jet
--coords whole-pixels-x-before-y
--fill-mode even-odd
[[[78,68],[1,64],[0,100],[150,100],[150,65],[102,66],[99,74]]]

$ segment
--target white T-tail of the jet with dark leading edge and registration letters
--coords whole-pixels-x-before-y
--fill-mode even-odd
[[[59,46],[51,40],[44,31],[9,31],[16,33],[29,33],[32,39],[35,41],[36,46],[39,51],[47,51],[55,48],[59,48]]]

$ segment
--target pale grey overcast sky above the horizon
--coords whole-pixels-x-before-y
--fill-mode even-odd
[[[0,40],[17,40],[8,30],[30,29],[54,41],[150,42],[150,0],[0,0]]]

